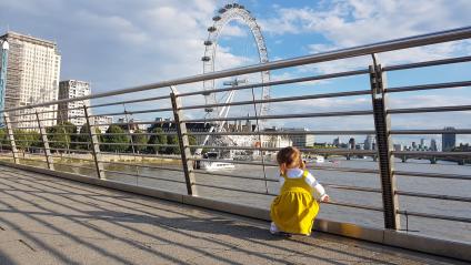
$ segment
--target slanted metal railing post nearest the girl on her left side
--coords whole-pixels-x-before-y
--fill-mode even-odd
[[[189,147],[190,143],[188,141],[187,124],[184,122],[181,122],[181,119],[183,118],[183,113],[180,110],[181,103],[180,103],[180,99],[177,95],[178,93],[177,88],[171,86],[171,89],[172,89],[172,92],[170,93],[170,98],[172,101],[173,118],[177,124],[178,142],[180,145],[181,163],[183,165],[184,180],[187,183],[187,192],[188,192],[188,195],[196,196],[198,195],[198,193],[196,187],[193,165],[192,165],[192,162],[188,160],[188,157],[191,157],[191,150]]]

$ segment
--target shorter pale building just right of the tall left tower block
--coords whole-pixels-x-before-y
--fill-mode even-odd
[[[59,83],[59,100],[80,98],[90,93],[90,84],[83,81],[67,80]],[[80,130],[87,123],[84,105],[90,105],[90,100],[59,103],[58,123],[71,122]]]

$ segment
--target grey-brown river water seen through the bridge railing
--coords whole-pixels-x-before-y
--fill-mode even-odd
[[[136,165],[139,165],[137,163]],[[153,163],[152,166],[159,164]],[[163,165],[163,164],[161,164]],[[334,163],[325,162],[322,165],[333,167],[355,167],[355,169],[378,169],[378,163],[370,160],[343,160],[337,159]],[[87,165],[92,167],[91,165]],[[169,167],[169,164],[164,164]],[[179,164],[170,165],[172,167],[181,169]],[[74,172],[83,175],[94,176],[92,171],[83,169],[72,169],[66,166],[56,166],[57,170]],[[118,182],[124,182],[132,185],[142,185],[156,187],[159,190],[172,191],[177,193],[186,193],[184,183],[176,183],[170,181],[184,182],[183,173],[176,171],[164,171],[148,169],[141,166],[129,165],[110,165],[107,164],[107,170],[126,172],[130,174],[140,174],[144,176],[132,176],[117,173],[107,172],[107,179]],[[457,163],[439,162],[438,164],[430,164],[429,161],[409,160],[407,163],[401,163],[399,160],[394,164],[398,171],[409,172],[428,172],[440,174],[465,174],[470,175],[471,165],[458,165]],[[318,179],[320,183],[339,184],[339,185],[353,185],[362,187],[380,188],[380,179],[377,174],[365,173],[350,173],[339,171],[323,171],[315,169],[311,173]],[[220,175],[210,175],[197,173],[197,183],[201,185],[224,186],[231,188],[239,188],[242,191],[252,191],[258,193],[265,193],[267,187],[269,193],[278,193],[279,184],[277,182],[265,182],[264,176],[268,179],[277,179],[277,167],[265,167],[263,172],[262,166],[253,165],[236,165],[236,169],[218,171],[218,173],[228,173],[242,176],[258,177],[259,180],[247,180],[240,177],[227,177]],[[149,176],[149,177],[148,177]],[[154,180],[151,177],[164,179],[170,181]],[[471,196],[471,181],[470,180],[450,180],[450,179],[431,179],[431,177],[417,177],[417,176],[397,176],[398,190],[408,192],[420,192],[430,194],[442,194],[453,196]],[[227,191],[222,188],[207,187],[199,185],[199,196],[211,197],[220,201],[231,203],[245,204],[269,208],[273,196],[265,194],[251,194],[248,192]],[[333,202],[345,202],[360,205],[370,205],[381,207],[381,194],[370,192],[345,191],[325,187]],[[471,203],[469,202],[454,202],[442,201],[435,198],[420,198],[411,196],[399,196],[399,206],[402,211],[421,212],[428,214],[439,214],[449,216],[460,216],[471,218]],[[320,218],[348,222],[369,227],[383,227],[383,217],[381,212],[358,210],[345,206],[322,204],[319,214]],[[414,216],[401,216],[401,228],[408,228],[408,233],[418,233],[428,236],[461,241],[471,244],[471,224],[453,221],[442,221],[437,218],[424,218]]]

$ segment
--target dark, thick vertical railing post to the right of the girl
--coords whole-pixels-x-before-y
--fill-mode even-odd
[[[395,194],[395,177],[393,171],[394,156],[392,154],[392,139],[390,134],[391,121],[387,112],[385,74],[373,54],[373,65],[369,67],[371,96],[373,105],[374,128],[377,132],[377,149],[379,157],[382,202],[384,210],[384,227],[400,230],[398,214],[399,201]]]

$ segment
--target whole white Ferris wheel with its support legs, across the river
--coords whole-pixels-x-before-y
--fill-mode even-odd
[[[240,24],[244,26],[244,28],[249,29],[250,35],[252,38],[251,42],[257,49],[257,62],[258,63],[267,63],[269,61],[267,45],[261,32],[260,26],[257,23],[255,18],[251,14],[249,10],[247,10],[243,6],[238,3],[229,3],[223,8],[218,10],[218,14],[213,18],[213,24],[208,28],[208,39],[204,41],[204,54],[201,58],[203,62],[203,73],[214,72],[218,69],[218,61],[222,60],[218,57],[218,48],[219,42],[221,41],[221,34],[224,31],[224,28],[232,22],[237,21]],[[269,111],[269,104],[263,102],[263,100],[270,99],[270,86],[263,85],[264,83],[270,82],[270,72],[262,71],[257,73],[258,80],[254,81],[254,74],[245,75],[245,77],[236,77],[234,80],[230,82],[224,82],[226,85],[238,86],[239,84],[247,83],[261,83],[260,88],[252,89],[251,100],[253,101],[262,101],[257,104],[254,108],[255,115],[263,116]],[[204,101],[207,104],[206,108],[206,118],[227,118],[230,113],[230,106],[226,105],[232,102],[236,98],[237,90],[224,90],[223,92],[216,93],[214,91],[220,86],[218,82],[214,80],[207,80],[203,82],[203,90],[208,91],[204,93]],[[241,92],[239,92],[241,94]],[[255,105],[255,104],[254,104]],[[222,120],[222,119],[221,119]],[[213,123],[214,126],[211,128],[210,131],[221,132],[224,131],[227,124],[224,121],[218,121]],[[258,122],[258,130],[263,126],[263,121]],[[209,137],[206,139],[203,144],[207,144]],[[241,136],[227,136],[222,142],[231,142],[232,144],[241,145],[241,142],[254,142],[253,136],[251,139],[241,137]]]

